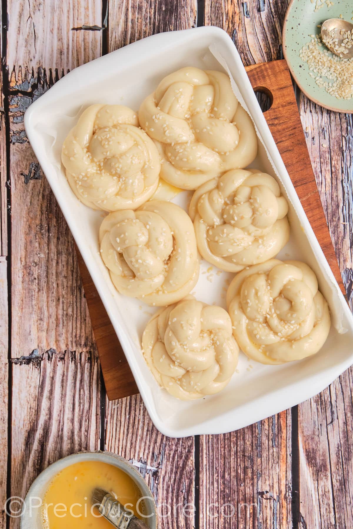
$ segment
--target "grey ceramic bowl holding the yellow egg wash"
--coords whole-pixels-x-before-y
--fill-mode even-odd
[[[43,470],[43,472],[41,472],[40,475],[33,481],[24,498],[20,529],[38,529],[39,527],[42,527],[41,509],[32,508],[31,512],[30,498],[43,498],[52,479],[62,469],[80,461],[100,461],[102,463],[108,463],[113,467],[120,468],[123,470],[123,472],[130,476],[130,478],[139,488],[142,497],[147,497],[151,500],[144,501],[144,514],[146,515],[146,518],[143,520],[144,523],[147,524],[149,529],[157,529],[158,522],[155,499],[153,498],[152,492],[146,484],[146,481],[144,481],[138,470],[136,470],[128,460],[112,452],[80,452],[78,454],[68,455],[66,458],[59,459],[46,468],[46,470]]]

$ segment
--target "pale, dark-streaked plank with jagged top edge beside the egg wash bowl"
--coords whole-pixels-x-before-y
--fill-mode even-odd
[[[99,449],[99,360],[94,353],[34,351],[12,359],[12,372],[11,495],[23,498],[53,461]]]

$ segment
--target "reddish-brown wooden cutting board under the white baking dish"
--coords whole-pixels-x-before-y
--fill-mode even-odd
[[[273,100],[269,110],[264,113],[267,124],[316,238],[343,294],[345,294],[316,187],[309,152],[306,148],[287,63],[285,60],[265,62],[247,66],[246,70],[255,92],[263,92]],[[108,399],[115,400],[134,395],[138,393],[138,388],[129,364],[86,265],[77,249],[76,251]]]

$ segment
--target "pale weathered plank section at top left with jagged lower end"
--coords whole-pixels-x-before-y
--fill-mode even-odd
[[[101,0],[8,0],[7,64],[16,78],[39,68],[59,72],[76,68],[101,54],[101,31],[75,30],[102,26]]]

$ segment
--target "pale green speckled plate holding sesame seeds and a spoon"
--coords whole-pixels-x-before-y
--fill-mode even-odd
[[[311,0],[292,0],[289,3],[283,26],[283,53],[296,84],[309,99],[329,110],[353,113],[353,97],[338,99],[326,92],[324,87],[316,85],[315,79],[309,75],[309,66],[299,56],[302,47],[310,42],[310,35],[320,34],[318,24],[327,19],[339,18],[340,15],[352,22],[352,0],[332,2],[330,6],[323,2],[317,11],[315,6],[320,5],[321,0],[314,0],[313,3]],[[324,44],[320,51],[323,49],[327,49]]]

